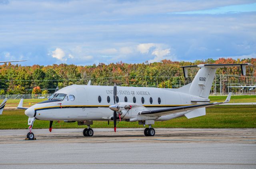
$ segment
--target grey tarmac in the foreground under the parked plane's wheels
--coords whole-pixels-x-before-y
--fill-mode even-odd
[[[9,168],[256,168],[256,129],[0,130],[0,169]]]

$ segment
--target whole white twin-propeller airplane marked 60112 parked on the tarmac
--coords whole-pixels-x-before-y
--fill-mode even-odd
[[[145,136],[154,136],[152,127],[155,121],[166,121],[181,116],[188,119],[206,114],[205,107],[220,105],[230,101],[231,93],[224,102],[210,103],[208,99],[217,68],[240,66],[245,75],[246,66],[252,64],[200,64],[183,66],[185,78],[188,68],[200,68],[192,83],[178,89],[153,87],[124,87],[98,85],[70,85],[56,91],[48,100],[22,107],[20,100],[18,109],[26,109],[25,114],[30,125],[28,139],[34,139],[32,127],[34,121],[49,120],[50,132],[53,121],[78,122],[87,125],[84,136],[92,136],[90,125],[93,121],[138,121],[140,125],[148,125]]]

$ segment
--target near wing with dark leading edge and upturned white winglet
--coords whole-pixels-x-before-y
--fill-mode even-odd
[[[161,116],[161,115],[168,115],[168,114],[174,114],[182,111],[188,111],[192,109],[198,109],[202,107],[210,107],[214,105],[220,105],[223,103],[228,103],[230,101],[231,92],[228,93],[228,97],[224,102],[214,102],[214,103],[207,103],[207,104],[196,104],[196,105],[186,105],[186,106],[178,106],[178,107],[170,107],[170,108],[164,108],[164,109],[154,109],[154,110],[144,110],[138,112],[138,115],[147,115],[147,116]]]

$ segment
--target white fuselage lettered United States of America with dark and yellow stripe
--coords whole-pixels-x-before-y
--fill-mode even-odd
[[[108,121],[113,117],[113,111],[108,108],[114,104],[112,86],[70,85],[58,90],[56,94],[58,93],[65,95],[62,95],[63,100],[50,99],[37,103],[28,108],[25,114],[40,120],[61,121]],[[137,103],[147,109],[192,105],[196,104],[194,100],[208,101],[202,97],[154,87],[118,86],[117,96],[118,102]],[[136,109],[125,114],[125,119],[136,119],[136,113],[133,111]],[[184,113],[175,113],[169,115],[168,119],[181,115]],[[121,117],[123,118],[124,114]],[[162,117],[162,120],[166,119]]]

